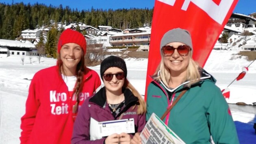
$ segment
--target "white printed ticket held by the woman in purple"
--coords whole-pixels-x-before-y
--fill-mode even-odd
[[[113,133],[135,133],[134,119],[99,122],[100,136],[110,136]]]

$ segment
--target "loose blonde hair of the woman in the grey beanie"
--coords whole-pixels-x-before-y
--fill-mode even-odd
[[[184,83],[185,81],[189,81],[187,84],[188,87],[191,87],[194,83],[197,83],[200,81],[201,75],[199,70],[201,67],[194,61],[192,58],[192,53],[189,53],[189,65],[187,66],[187,74],[183,78],[182,82]],[[160,70],[160,74],[158,76],[158,71]],[[165,66],[164,60],[163,60],[163,55],[161,55],[161,62],[156,68],[156,72],[154,75],[157,75],[156,78],[154,78],[157,81],[162,80],[162,82],[168,86],[169,81],[171,80],[171,72]]]

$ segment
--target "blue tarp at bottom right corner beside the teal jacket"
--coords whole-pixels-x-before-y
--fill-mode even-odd
[[[256,134],[253,128],[254,123],[234,122],[240,144],[256,144]]]

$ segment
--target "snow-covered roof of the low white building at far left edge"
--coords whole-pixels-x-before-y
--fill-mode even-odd
[[[35,45],[32,44],[28,40],[17,41],[17,40],[4,40],[4,39],[0,39],[0,46],[35,48]]]

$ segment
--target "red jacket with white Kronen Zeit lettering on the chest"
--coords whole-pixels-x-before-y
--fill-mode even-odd
[[[79,107],[100,85],[98,74],[86,68]],[[21,144],[70,144],[75,103],[58,66],[37,72],[30,83],[26,113],[21,118]]]

